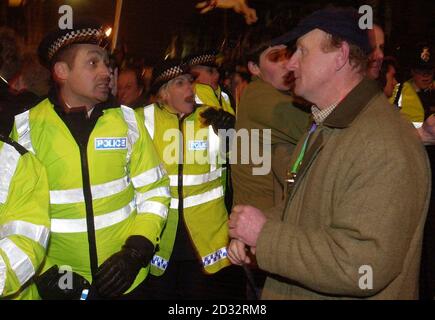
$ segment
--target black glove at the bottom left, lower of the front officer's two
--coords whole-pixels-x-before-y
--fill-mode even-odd
[[[69,284],[67,272],[60,271],[55,265],[35,277],[38,293],[43,300],[79,300],[83,289],[90,288],[89,282],[75,272],[71,272],[72,283]]]

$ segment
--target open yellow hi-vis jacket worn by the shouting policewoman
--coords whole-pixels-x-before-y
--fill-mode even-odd
[[[152,260],[151,273],[162,275],[170,263],[179,218],[179,205],[193,246],[207,273],[215,273],[230,264],[227,258],[228,214],[221,182],[219,138],[211,126],[204,127],[200,113],[184,119],[167,108],[151,104],[139,109],[159,155],[169,174],[171,205],[163,231],[160,250]],[[183,133],[180,143],[179,132]],[[182,161],[180,145],[183,146]],[[181,188],[178,188],[181,186]]]

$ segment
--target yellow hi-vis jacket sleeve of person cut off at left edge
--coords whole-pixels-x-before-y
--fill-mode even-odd
[[[0,140],[1,298],[38,298],[29,280],[45,257],[48,206],[48,182],[41,163],[24,148]]]

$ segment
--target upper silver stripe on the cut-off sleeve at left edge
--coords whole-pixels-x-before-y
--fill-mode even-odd
[[[29,238],[47,249],[50,230],[45,226],[20,220],[10,221],[0,226],[0,238],[13,235]]]

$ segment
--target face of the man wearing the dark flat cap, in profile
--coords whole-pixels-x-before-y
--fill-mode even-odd
[[[326,41],[327,34],[322,30],[306,33],[298,39],[287,64],[287,69],[294,72],[296,95],[318,106],[337,68],[338,50],[325,52],[322,48]]]

